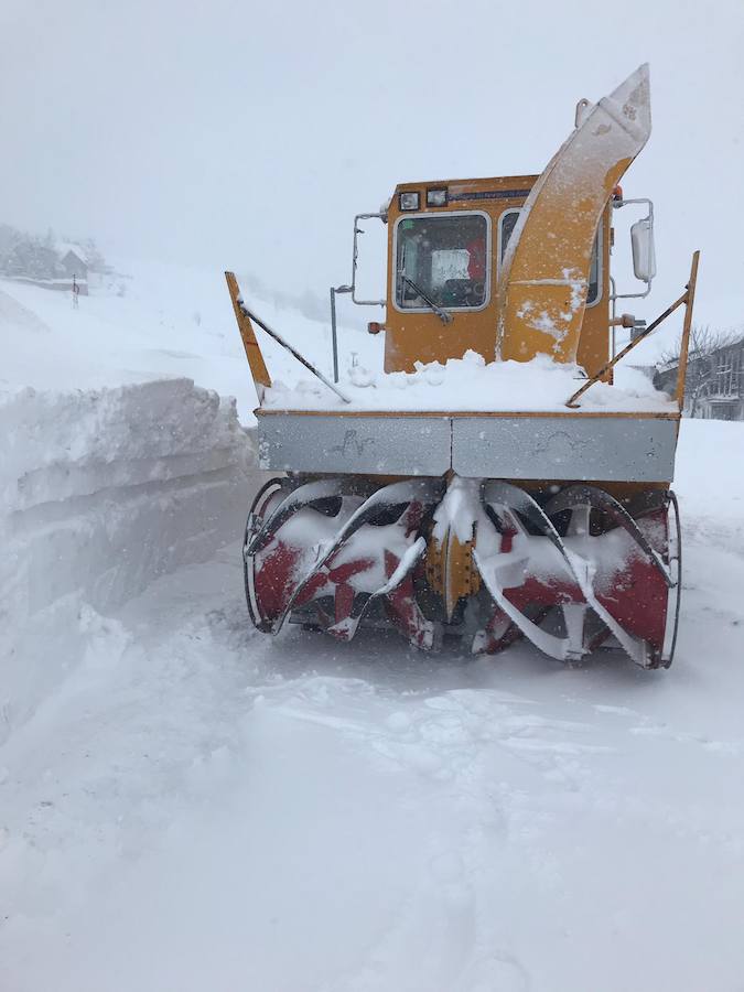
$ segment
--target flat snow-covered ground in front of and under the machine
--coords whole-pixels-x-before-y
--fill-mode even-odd
[[[104,619],[0,752],[0,988],[735,990],[744,560],[669,672],[247,628],[237,548]]]

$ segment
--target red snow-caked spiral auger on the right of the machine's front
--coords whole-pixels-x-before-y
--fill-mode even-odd
[[[671,664],[679,605],[673,497],[638,519],[586,485],[568,487],[541,508],[525,490],[495,481],[484,484],[483,502],[496,537],[484,539],[482,527],[474,560],[496,611],[481,649],[499,650],[515,639],[508,617],[563,661],[579,660],[612,635],[643,668]],[[592,526],[593,514],[601,515],[600,526]],[[560,633],[544,626],[554,611],[562,615]]]

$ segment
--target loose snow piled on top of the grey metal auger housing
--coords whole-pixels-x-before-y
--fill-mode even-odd
[[[468,351],[462,358],[417,362],[413,373],[349,368],[339,386],[344,403],[319,379],[294,387],[274,381],[265,406],[285,410],[540,410],[565,411],[565,401],[585,381],[575,365],[548,356],[531,362],[490,362]],[[634,369],[624,369],[622,385],[596,382],[582,397],[581,408],[592,411],[673,412],[669,397]]]

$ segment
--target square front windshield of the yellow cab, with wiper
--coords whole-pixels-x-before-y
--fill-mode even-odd
[[[406,217],[398,225],[396,303],[406,310],[483,306],[488,224],[482,214]]]

